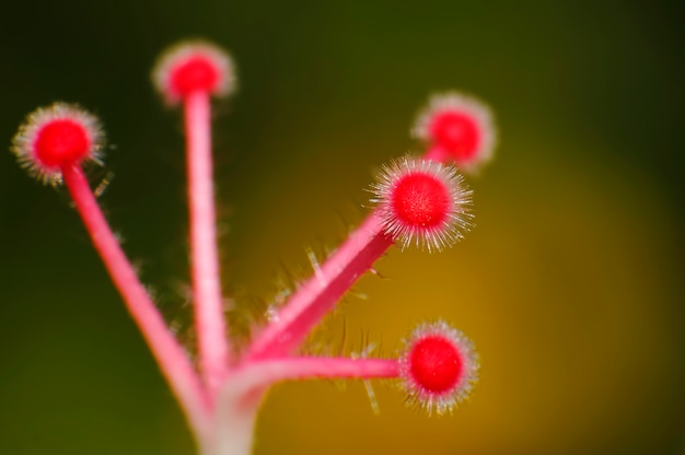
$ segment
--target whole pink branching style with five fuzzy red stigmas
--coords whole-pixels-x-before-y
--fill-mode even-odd
[[[473,171],[491,158],[487,108],[455,93],[432,98],[414,128],[426,143],[425,154],[382,166],[370,187],[374,208],[367,219],[236,354],[219,280],[210,135],[211,97],[233,92],[233,65],[223,50],[194,42],[165,52],[152,74],[165,102],[184,110],[197,362],[166,327],[89,185],[86,166],[102,165],[103,159],[97,119],[65,103],[39,108],[20,127],[12,151],[39,180],[67,187],[200,453],[249,453],[264,392],[279,381],[394,378],[408,402],[429,413],[451,412],[477,380],[478,358],[471,341],[443,320],[419,325],[391,359],[304,355],[299,348],[388,248],[417,245],[439,252],[463,237],[471,228],[472,191],[455,166]]]

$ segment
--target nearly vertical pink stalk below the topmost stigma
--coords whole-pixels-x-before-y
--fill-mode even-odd
[[[228,370],[213,197],[209,93],[185,97],[185,127],[190,211],[190,267],[200,368],[210,395]]]

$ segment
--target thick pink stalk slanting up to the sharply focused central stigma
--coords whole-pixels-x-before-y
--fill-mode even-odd
[[[394,244],[374,211],[350,234],[254,340],[247,360],[274,358],[295,349],[352,284]]]

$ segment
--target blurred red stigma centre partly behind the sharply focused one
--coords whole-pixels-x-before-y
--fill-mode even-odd
[[[476,158],[480,135],[473,117],[452,110],[438,113],[429,129],[433,140],[457,160],[468,161]]]

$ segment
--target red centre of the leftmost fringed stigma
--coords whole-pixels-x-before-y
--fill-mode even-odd
[[[88,156],[91,140],[79,122],[63,118],[40,128],[34,141],[36,159],[46,167],[60,167]]]

